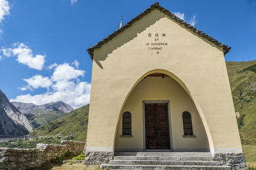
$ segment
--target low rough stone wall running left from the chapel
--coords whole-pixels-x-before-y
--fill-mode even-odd
[[[0,170],[40,167],[67,151],[74,155],[82,153],[84,145],[84,142],[61,141],[61,145],[39,143],[35,149],[0,148]]]

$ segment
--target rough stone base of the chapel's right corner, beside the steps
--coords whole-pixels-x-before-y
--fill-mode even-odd
[[[232,166],[232,169],[246,169],[244,153],[214,153],[214,159],[221,165]]]

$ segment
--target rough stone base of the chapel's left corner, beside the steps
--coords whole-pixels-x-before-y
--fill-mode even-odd
[[[114,152],[85,152],[84,164],[102,164],[113,159]]]

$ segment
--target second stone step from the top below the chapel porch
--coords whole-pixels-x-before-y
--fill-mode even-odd
[[[212,157],[195,156],[115,156],[113,160],[212,160]]]

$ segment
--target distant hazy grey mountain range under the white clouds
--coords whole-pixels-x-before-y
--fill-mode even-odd
[[[62,101],[36,105],[33,103],[12,102],[14,106],[25,115],[35,128],[49,124],[52,120],[65,117],[74,109]]]

